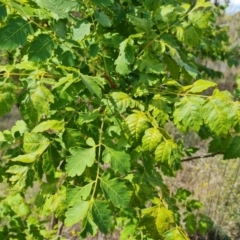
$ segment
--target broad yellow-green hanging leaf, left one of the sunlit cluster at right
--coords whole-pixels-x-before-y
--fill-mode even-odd
[[[203,124],[202,104],[204,100],[198,96],[185,96],[175,103],[174,123],[182,131],[191,129],[198,132]]]

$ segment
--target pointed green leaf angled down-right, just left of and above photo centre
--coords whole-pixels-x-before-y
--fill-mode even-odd
[[[100,87],[103,86],[104,80],[100,77],[92,77],[81,74],[81,79],[87,89],[92,93],[95,94],[97,97],[102,97],[102,90]]]

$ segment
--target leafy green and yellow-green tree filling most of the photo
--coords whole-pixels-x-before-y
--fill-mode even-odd
[[[195,214],[202,204],[162,178],[196,151],[169,122],[240,157],[240,104],[199,64],[237,62],[219,9],[192,2],[0,1],[0,114],[17,105],[22,116],[0,132],[1,239],[54,239],[51,215],[82,238],[182,240],[211,227]]]

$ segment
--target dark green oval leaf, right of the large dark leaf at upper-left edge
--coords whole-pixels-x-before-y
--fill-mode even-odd
[[[31,42],[28,55],[29,60],[33,62],[43,62],[52,56],[55,43],[47,34],[39,34],[33,42]]]

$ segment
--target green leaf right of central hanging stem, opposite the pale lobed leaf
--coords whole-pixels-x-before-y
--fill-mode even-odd
[[[130,171],[130,156],[125,151],[116,151],[106,147],[103,152],[103,161],[110,160],[111,167],[120,174],[126,174]]]

